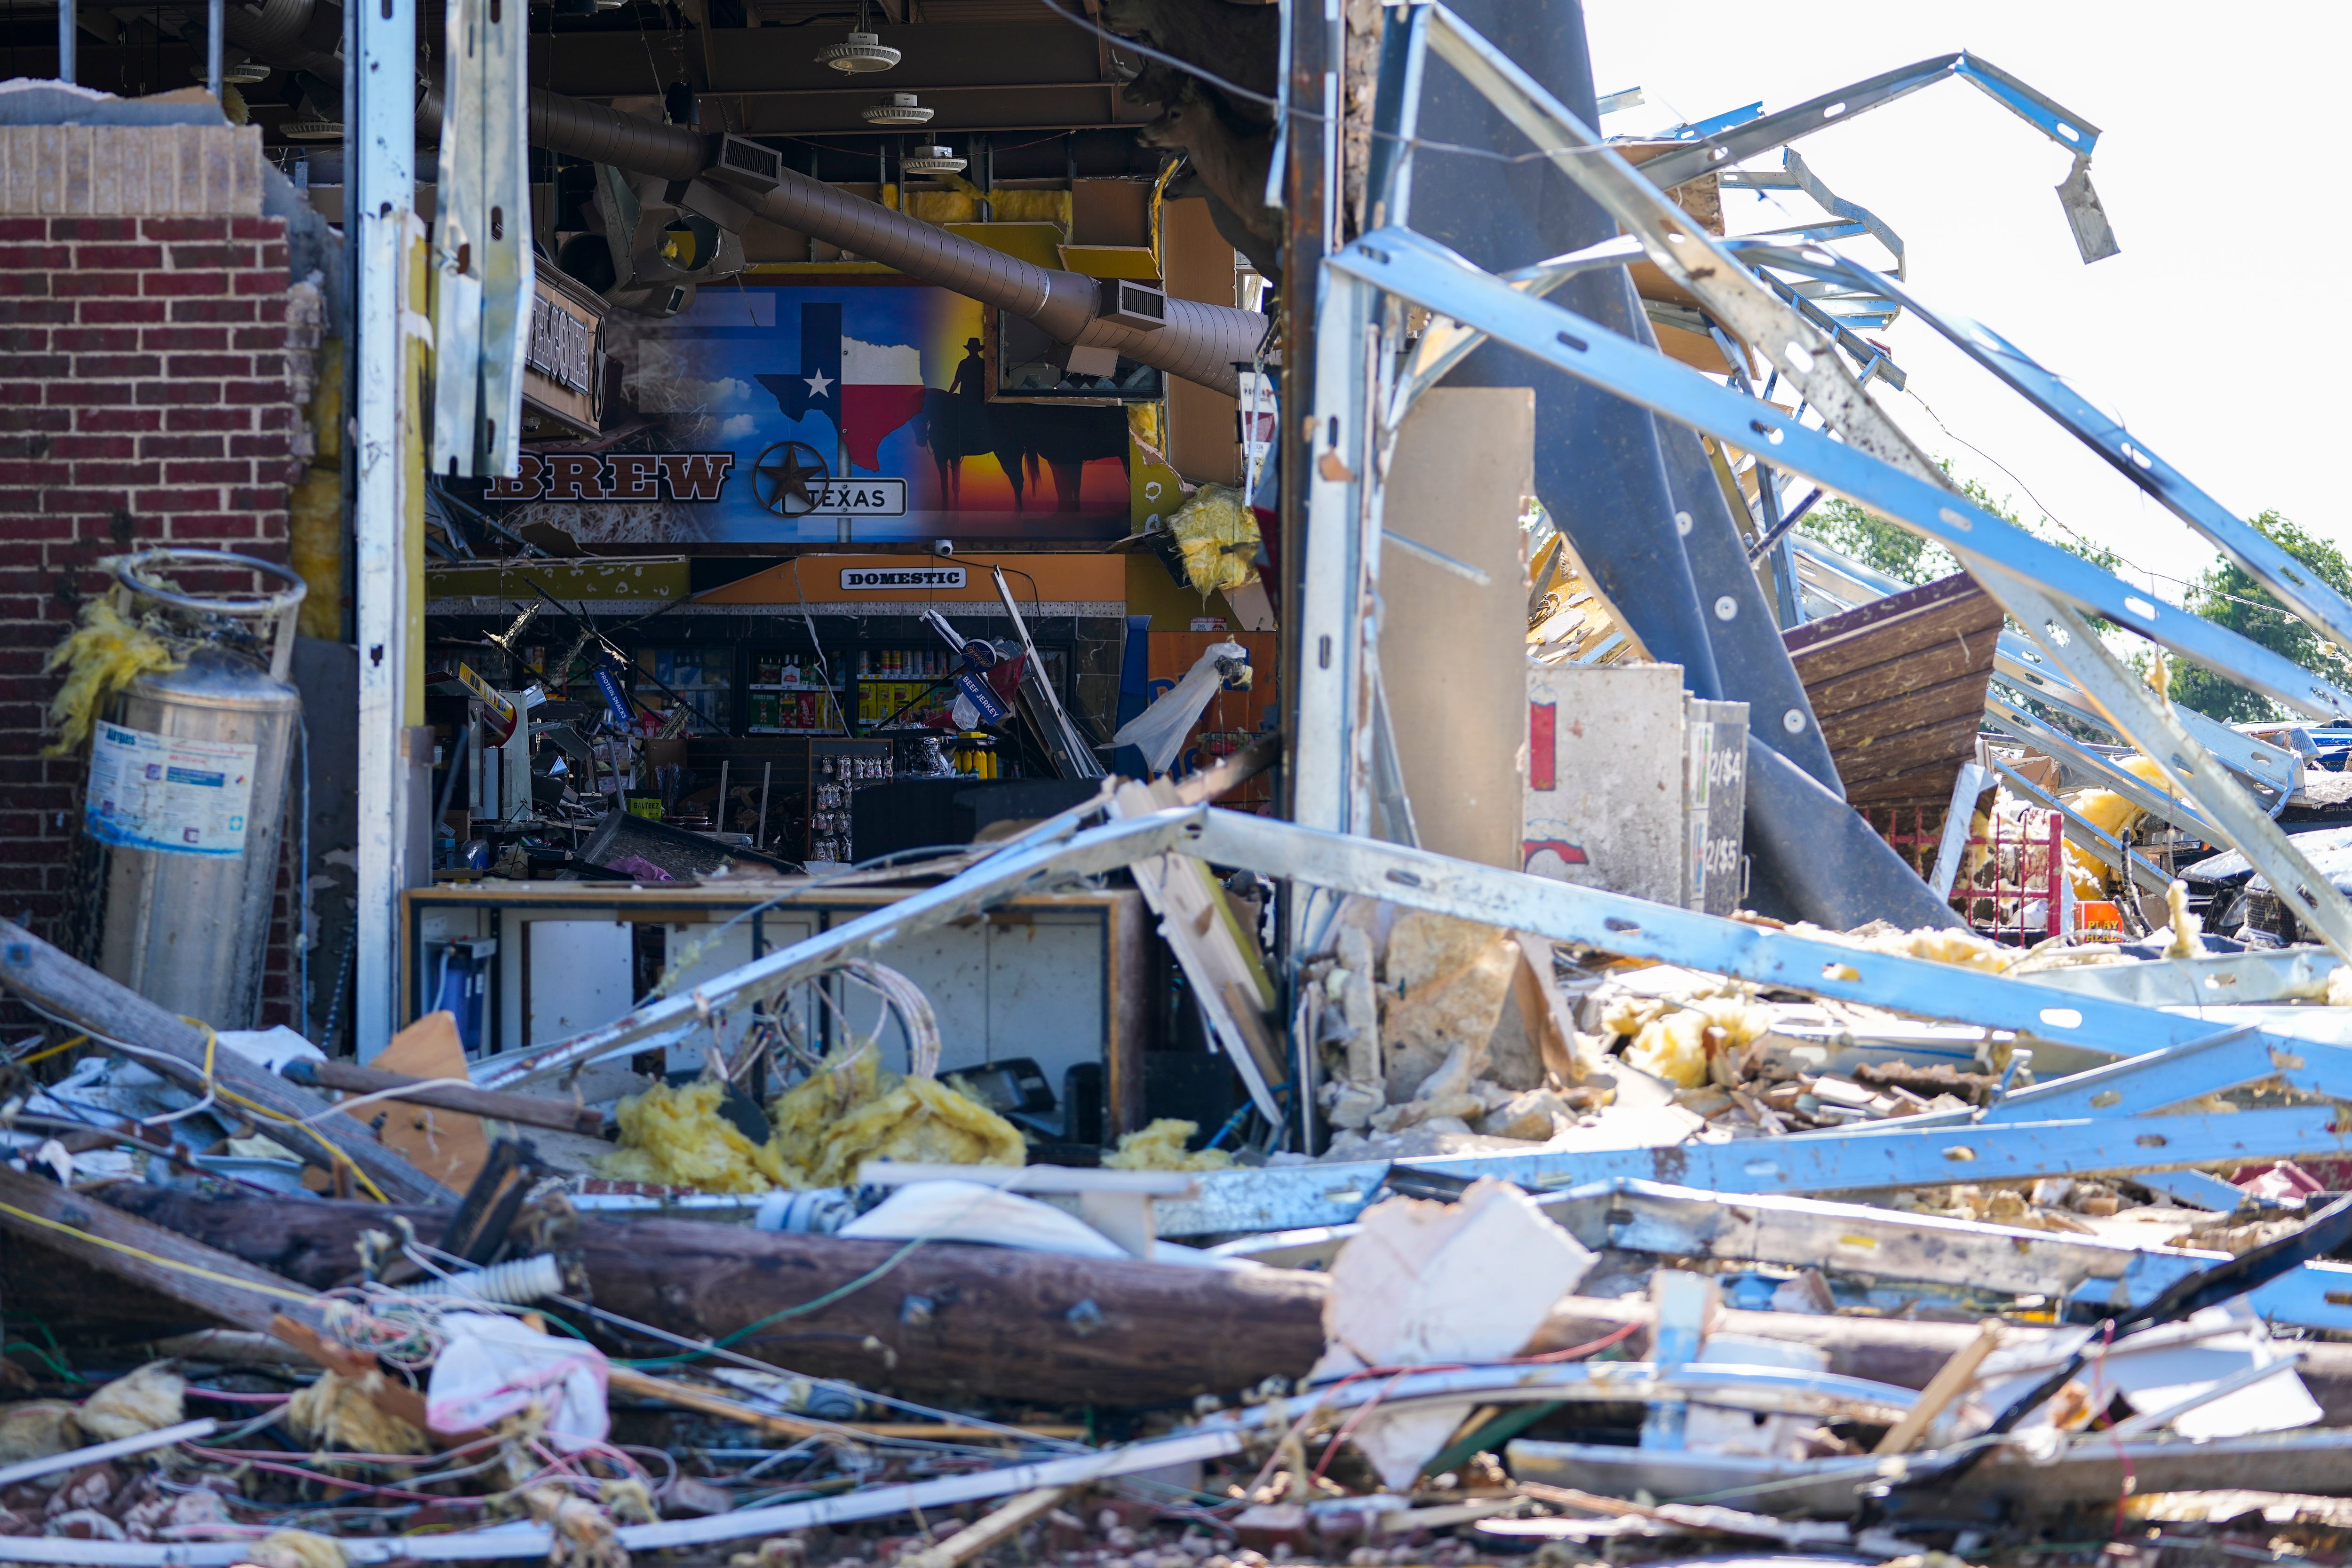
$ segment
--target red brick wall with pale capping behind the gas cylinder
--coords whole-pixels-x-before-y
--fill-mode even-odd
[[[259,158],[226,127],[0,127],[0,914],[42,936],[66,933],[87,762],[40,757],[40,665],[96,562],[287,557],[318,313],[289,301]],[[292,1018],[285,910],[266,1023]]]

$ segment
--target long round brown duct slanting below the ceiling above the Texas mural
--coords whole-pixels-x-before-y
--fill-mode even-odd
[[[866,261],[898,268],[908,277],[1025,315],[1061,343],[1108,348],[1218,393],[1240,390],[1232,367],[1256,357],[1265,336],[1268,317],[1192,299],[1169,299],[1167,322],[1157,329],[1108,322],[1098,280],[1007,256],[880,202],[835,190],[786,169],[774,148],[743,136],[713,139],[680,125],[637,120],[534,89],[532,141],[572,158],[703,186],[706,197],[699,202],[687,193],[687,207],[708,212],[736,205]]]

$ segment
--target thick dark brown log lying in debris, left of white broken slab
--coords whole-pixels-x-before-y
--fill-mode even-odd
[[[120,1182],[108,1199],[310,1286],[346,1279],[353,1241],[388,1218],[372,1204],[200,1197],[141,1182]],[[416,1220],[430,1234],[440,1215],[419,1211]],[[1105,1262],[955,1241],[898,1255],[896,1241],[602,1215],[583,1215],[569,1246],[597,1307],[689,1338],[720,1340],[847,1291],[731,1347],[917,1396],[1167,1403],[1298,1378],[1324,1340],[1327,1281],[1294,1269]],[[677,1349],[649,1335],[621,1342],[628,1354]]]

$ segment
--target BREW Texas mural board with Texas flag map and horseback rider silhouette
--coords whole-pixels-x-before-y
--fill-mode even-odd
[[[501,520],[539,503],[583,545],[1103,545],[1134,531],[1127,409],[1004,393],[993,313],[962,294],[746,277],[673,317],[612,310],[593,343],[569,292],[541,294],[527,381],[557,428],[524,433],[543,444],[482,496]],[[586,407],[581,376],[609,407]]]

